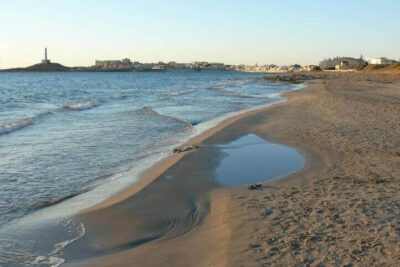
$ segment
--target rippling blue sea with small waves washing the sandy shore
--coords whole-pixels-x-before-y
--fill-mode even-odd
[[[59,266],[85,235],[73,214],[190,138],[299,87],[266,75],[0,73],[0,266]]]

